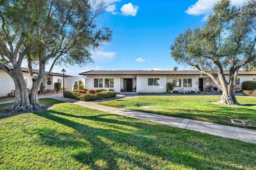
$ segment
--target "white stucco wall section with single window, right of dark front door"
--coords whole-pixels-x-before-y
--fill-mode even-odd
[[[148,78],[159,78],[159,86],[148,86]],[[138,75],[136,78],[137,93],[163,93],[166,92],[166,76],[164,75]]]

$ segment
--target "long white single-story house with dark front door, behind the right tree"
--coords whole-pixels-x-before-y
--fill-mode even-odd
[[[229,71],[225,71],[228,80]],[[157,70],[91,70],[82,72],[86,78],[86,89],[113,89],[116,92],[162,93],[166,92],[166,84],[172,82],[174,91],[204,91],[206,86],[218,87],[206,74],[199,71],[157,71]],[[236,84],[241,86],[244,81],[256,81],[256,71],[238,71]],[[220,89],[220,88],[218,88]],[[211,89],[213,91],[213,88]]]

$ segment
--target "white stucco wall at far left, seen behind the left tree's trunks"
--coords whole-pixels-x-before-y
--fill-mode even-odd
[[[30,79],[30,75],[28,72],[23,72],[23,76],[27,77],[27,88],[32,87],[32,80]],[[4,70],[0,69],[0,96],[7,96],[12,90],[15,90],[15,86],[13,86],[12,77],[9,76]]]

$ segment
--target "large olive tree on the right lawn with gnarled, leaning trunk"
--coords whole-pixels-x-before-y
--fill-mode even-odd
[[[235,97],[238,70],[256,59],[256,1],[242,7],[230,0],[214,5],[206,23],[180,33],[170,46],[171,56],[206,74],[221,88],[220,103],[239,105]],[[226,80],[224,70],[229,70]]]

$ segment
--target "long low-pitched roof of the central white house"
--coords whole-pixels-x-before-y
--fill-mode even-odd
[[[118,71],[118,70],[90,70],[86,72],[79,73],[79,75],[200,75],[202,74],[199,71],[195,70],[182,70],[182,71],[157,71],[157,70],[127,70],[127,71]],[[217,72],[216,72],[217,74]],[[224,74],[228,75],[229,71],[224,71]],[[256,75],[256,70],[254,71],[238,71],[239,75]]]

